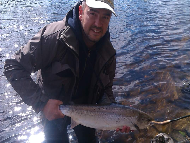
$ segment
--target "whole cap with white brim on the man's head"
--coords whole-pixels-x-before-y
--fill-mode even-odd
[[[86,4],[92,8],[105,8],[110,10],[115,16],[114,11],[114,0],[83,0],[86,1]]]

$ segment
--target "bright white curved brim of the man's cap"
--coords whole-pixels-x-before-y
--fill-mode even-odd
[[[105,9],[108,9],[110,10],[115,16],[116,13],[115,11],[113,10],[113,8],[111,8],[108,4],[104,3],[104,2],[101,2],[101,1],[95,1],[95,0],[86,0],[86,4],[89,6],[89,7],[92,7],[92,8],[105,8]]]

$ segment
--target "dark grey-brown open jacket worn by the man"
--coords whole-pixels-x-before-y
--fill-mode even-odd
[[[88,104],[98,103],[103,95],[114,101],[115,54],[109,34],[106,34],[96,57]],[[35,82],[31,73],[36,71]],[[7,59],[4,74],[22,100],[36,112],[48,99],[68,104],[78,87],[79,41],[66,18],[45,26],[21,47],[15,59]]]

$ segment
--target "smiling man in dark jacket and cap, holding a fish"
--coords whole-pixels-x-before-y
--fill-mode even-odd
[[[70,118],[61,113],[60,104],[114,102],[116,52],[108,31],[113,8],[113,0],[79,2],[5,62],[5,76],[15,91],[43,113],[47,142],[68,142]],[[36,71],[38,84],[30,77]],[[79,125],[74,130],[79,143],[96,142],[95,129]]]

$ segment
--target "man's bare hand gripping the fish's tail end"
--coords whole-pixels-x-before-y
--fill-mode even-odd
[[[42,110],[44,116],[49,120],[63,118],[65,115],[59,110],[59,105],[63,104],[60,100],[49,99]]]

